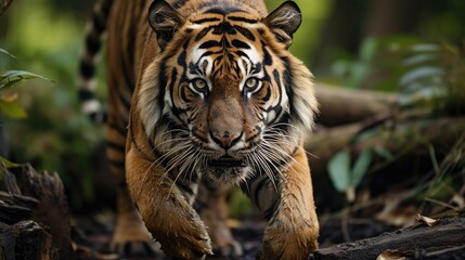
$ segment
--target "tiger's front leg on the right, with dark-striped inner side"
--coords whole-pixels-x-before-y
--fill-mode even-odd
[[[293,158],[275,185],[266,174],[242,185],[268,220],[257,259],[307,259],[318,247],[319,222],[303,148]]]

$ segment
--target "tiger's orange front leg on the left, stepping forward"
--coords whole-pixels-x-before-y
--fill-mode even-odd
[[[134,144],[128,147],[126,180],[147,230],[173,259],[204,259],[211,255],[207,230],[185,194],[140,148]]]

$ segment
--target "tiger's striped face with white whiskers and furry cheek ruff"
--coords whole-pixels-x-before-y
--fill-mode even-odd
[[[277,15],[298,11],[290,8]],[[163,18],[154,16],[155,31]],[[139,108],[147,136],[168,168],[227,183],[250,172],[274,179],[315,110],[310,74],[287,51],[297,28],[273,31],[267,18],[236,8],[173,20],[182,26],[168,41],[158,36],[163,51],[143,76]],[[292,103],[296,78],[310,88],[308,102]]]

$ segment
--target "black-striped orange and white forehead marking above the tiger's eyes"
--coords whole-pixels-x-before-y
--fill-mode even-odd
[[[223,69],[237,68],[228,73],[242,74],[240,78],[247,76],[256,64],[262,62],[255,47],[259,37],[256,30],[258,18],[243,11],[228,14],[218,10],[208,12],[189,20],[186,27],[193,32],[191,40],[194,43],[189,63],[207,77],[217,64],[223,64]]]

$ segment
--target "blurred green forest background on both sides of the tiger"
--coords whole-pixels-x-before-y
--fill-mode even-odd
[[[281,2],[269,0],[269,10]],[[356,96],[359,91],[377,91],[384,102],[379,113],[362,116],[359,122],[328,119],[326,115],[332,114],[326,109],[340,106],[339,98],[322,103],[314,136],[318,140],[320,133],[339,130],[322,135],[322,142],[346,139],[330,155],[332,147],[308,143],[311,160],[325,162],[315,166],[313,176],[319,211],[339,210],[353,204],[354,197],[366,202],[377,187],[378,193],[414,191],[402,202],[416,199],[416,209],[424,206],[426,197],[447,205],[453,198],[452,208],[463,207],[465,1],[296,2],[303,23],[292,51],[313,72],[317,88],[331,84],[332,90],[348,89]],[[0,156],[30,162],[39,171],[59,172],[76,213],[114,205],[112,178],[105,168],[104,126],[95,126],[80,113],[75,84],[92,3],[15,0],[0,17],[0,49],[11,54],[0,52],[0,73],[27,70],[50,79],[27,80],[3,92],[0,89]],[[104,102],[103,66],[98,96]],[[369,100],[350,104],[363,107],[364,102],[377,101],[378,95],[366,93]],[[414,126],[409,125],[412,121]],[[346,132],[351,126],[358,127]],[[404,143],[392,147],[401,141],[389,136],[418,126],[431,127],[428,132],[402,133]],[[456,127],[452,133],[448,132],[451,126]],[[379,140],[387,141],[376,142]],[[422,145],[414,144],[417,141]],[[235,216],[246,210],[237,199],[232,202]]]

